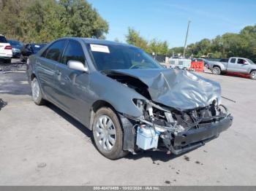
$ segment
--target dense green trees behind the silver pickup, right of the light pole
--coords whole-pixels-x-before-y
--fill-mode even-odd
[[[173,47],[167,55],[182,54],[184,47]],[[187,46],[187,57],[244,57],[256,61],[256,25],[246,26],[238,34],[226,33],[214,39],[202,39]]]

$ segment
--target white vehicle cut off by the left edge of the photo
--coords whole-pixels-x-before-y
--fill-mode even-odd
[[[0,34],[0,59],[4,59],[5,63],[11,63],[12,61],[12,46],[4,35]]]

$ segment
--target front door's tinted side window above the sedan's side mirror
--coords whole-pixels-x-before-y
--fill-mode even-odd
[[[61,63],[67,65],[68,61],[80,61],[81,63],[86,62],[86,58],[79,42],[69,40],[67,48],[61,58]]]

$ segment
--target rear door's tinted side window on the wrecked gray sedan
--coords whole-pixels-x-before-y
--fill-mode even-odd
[[[43,52],[42,57],[48,58],[52,61],[57,61],[59,62],[61,58],[61,54],[64,50],[66,44],[66,40],[60,40],[57,42],[54,42],[53,44],[48,47],[45,52]]]

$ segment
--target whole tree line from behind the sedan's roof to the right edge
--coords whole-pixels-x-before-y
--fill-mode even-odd
[[[155,52],[158,55],[171,57],[183,55],[184,52],[184,47],[169,49],[167,41],[146,40],[133,28],[128,28],[126,42],[150,54]],[[230,58],[233,56],[249,58],[256,62],[256,25],[246,26],[238,34],[226,33],[214,39],[202,39],[200,42],[189,44],[186,50],[187,58]]]

